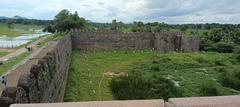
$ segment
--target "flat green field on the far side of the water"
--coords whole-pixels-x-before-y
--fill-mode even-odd
[[[21,36],[22,34],[27,33],[34,33],[30,31],[30,29],[42,29],[43,26],[37,25],[21,25],[21,24],[14,24],[12,28],[8,28],[7,24],[0,23],[0,35],[6,35],[8,37],[16,37]]]

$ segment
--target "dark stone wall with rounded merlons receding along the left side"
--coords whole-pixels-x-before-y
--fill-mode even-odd
[[[18,67],[16,71],[25,73],[18,77],[16,85],[6,87],[2,92],[1,107],[8,107],[11,103],[61,102],[64,96],[71,52],[71,37],[65,36],[50,42],[36,56]]]

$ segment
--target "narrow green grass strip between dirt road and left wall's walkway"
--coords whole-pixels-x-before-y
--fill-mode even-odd
[[[19,63],[20,61],[22,61],[23,59],[25,59],[27,56],[29,56],[31,54],[31,52],[25,52],[22,53],[19,56],[16,56],[10,60],[8,60],[7,62],[5,62],[3,65],[0,65],[0,75],[2,75],[4,72],[6,72],[7,70],[9,70],[10,68],[12,68],[14,65],[16,65],[17,63]]]

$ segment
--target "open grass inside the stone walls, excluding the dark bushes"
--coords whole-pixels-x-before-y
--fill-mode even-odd
[[[110,83],[130,71],[162,75],[181,90],[183,97],[201,96],[202,84],[213,83],[221,95],[239,94],[219,83],[222,69],[235,72],[240,63],[234,54],[214,52],[161,53],[146,51],[73,51],[65,101],[115,100]]]

